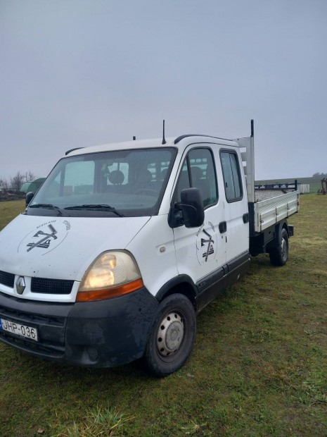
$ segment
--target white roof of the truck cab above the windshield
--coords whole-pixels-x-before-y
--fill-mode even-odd
[[[75,149],[68,150],[65,154],[69,156],[75,156],[80,154],[107,152],[110,150],[128,150],[128,149],[148,149],[152,147],[177,147],[180,151],[184,150],[187,144],[190,143],[215,143],[223,144],[226,146],[238,147],[237,142],[233,140],[226,140],[219,137],[211,137],[210,135],[199,134],[187,134],[179,137],[169,137],[166,139],[165,144],[162,144],[162,138],[152,138],[149,140],[131,140],[125,142],[113,142],[108,144],[100,144],[98,146],[91,147],[77,147]]]

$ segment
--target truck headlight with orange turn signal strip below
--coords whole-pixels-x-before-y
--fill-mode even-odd
[[[103,252],[86,270],[77,293],[77,302],[110,299],[143,287],[136,261],[129,252]]]

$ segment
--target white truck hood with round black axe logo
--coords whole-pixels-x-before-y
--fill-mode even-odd
[[[20,214],[0,232],[0,270],[81,281],[105,250],[123,250],[150,217],[42,217]]]

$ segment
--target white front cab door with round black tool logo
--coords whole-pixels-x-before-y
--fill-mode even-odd
[[[190,276],[199,292],[204,293],[210,285],[222,280],[226,263],[226,239],[224,231],[219,231],[220,223],[225,221],[215,164],[216,159],[219,162],[219,154],[215,156],[207,144],[194,144],[184,155],[172,204],[180,202],[181,190],[197,187],[203,198],[205,220],[198,228],[184,225],[174,228],[177,269],[180,275]]]

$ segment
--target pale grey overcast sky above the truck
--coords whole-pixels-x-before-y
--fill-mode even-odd
[[[250,135],[255,178],[327,172],[326,0],[0,0],[0,176],[66,150]]]

